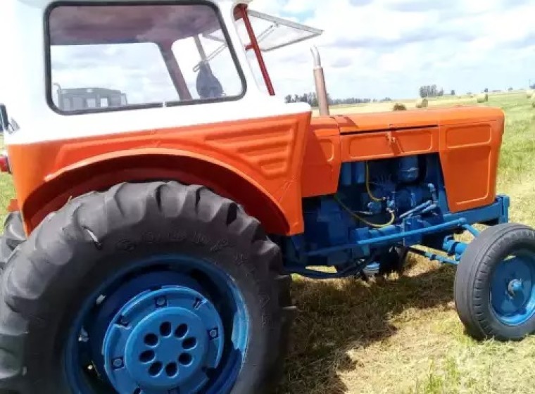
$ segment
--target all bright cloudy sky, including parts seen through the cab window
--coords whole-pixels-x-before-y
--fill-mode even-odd
[[[333,98],[415,98],[428,84],[457,94],[535,84],[535,0],[253,0],[250,8],[323,30],[264,53],[281,96],[314,91],[311,45],[320,50]],[[199,52],[189,41],[175,54],[182,54],[179,63],[194,91]],[[220,45],[203,44],[207,53]],[[175,99],[159,51],[133,45],[54,49],[53,81],[120,89],[130,102]],[[225,92],[238,95],[241,83],[229,63],[224,51],[211,64]]]

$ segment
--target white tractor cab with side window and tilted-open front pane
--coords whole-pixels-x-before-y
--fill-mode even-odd
[[[6,143],[309,111],[275,96],[262,53],[322,30],[250,10],[249,2],[1,2],[11,56],[0,89],[20,128]],[[44,124],[53,132],[34,132]]]

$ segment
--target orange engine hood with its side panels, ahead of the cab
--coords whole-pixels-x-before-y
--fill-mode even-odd
[[[451,212],[493,203],[505,114],[455,107],[334,117],[342,161],[439,153]]]

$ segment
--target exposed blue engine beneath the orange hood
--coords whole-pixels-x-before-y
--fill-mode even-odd
[[[305,231],[287,239],[284,252],[290,264],[342,267],[396,244],[357,246],[359,241],[394,234],[396,225],[406,226],[413,217],[447,212],[436,153],[343,163],[336,194],[303,200]],[[397,243],[421,241],[415,236]]]

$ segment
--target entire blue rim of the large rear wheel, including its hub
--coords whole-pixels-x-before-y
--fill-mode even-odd
[[[160,256],[106,280],[65,345],[73,392],[228,393],[248,341],[244,299],[202,260]]]

